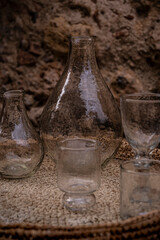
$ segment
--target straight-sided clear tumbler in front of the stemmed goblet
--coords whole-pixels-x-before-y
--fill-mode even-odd
[[[122,219],[160,209],[160,161],[130,160],[121,164],[120,216]]]

